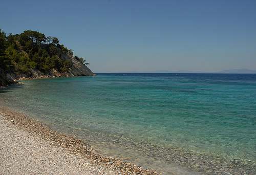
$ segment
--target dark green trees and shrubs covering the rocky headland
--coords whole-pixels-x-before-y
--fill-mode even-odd
[[[60,59],[63,54],[73,57],[72,50],[59,45],[56,37],[46,37],[45,34],[31,30],[7,36],[0,29],[0,68],[6,73],[32,76],[32,69],[42,73],[50,70],[65,73],[72,67],[72,61]],[[89,64],[83,58],[74,58],[85,65]]]

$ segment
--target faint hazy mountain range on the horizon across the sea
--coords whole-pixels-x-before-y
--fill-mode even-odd
[[[154,71],[154,73],[205,73],[205,74],[256,74],[256,71],[249,69],[233,69],[220,72],[200,72],[200,71]]]

